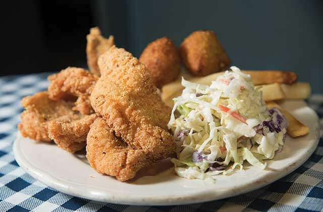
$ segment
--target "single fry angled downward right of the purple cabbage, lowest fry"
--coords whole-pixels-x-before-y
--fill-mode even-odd
[[[300,121],[298,121],[293,115],[291,115],[287,110],[283,109],[275,103],[274,101],[266,102],[267,108],[278,108],[283,112],[285,117],[288,120],[288,128],[287,128],[287,134],[291,137],[298,137],[302,135],[306,135],[309,132],[309,129],[306,125],[302,124]]]

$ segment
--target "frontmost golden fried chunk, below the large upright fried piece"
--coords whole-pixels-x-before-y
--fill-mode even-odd
[[[98,173],[126,181],[135,177],[138,170],[153,160],[149,156],[145,150],[131,148],[121,138],[117,138],[103,119],[98,118],[91,125],[86,157]]]

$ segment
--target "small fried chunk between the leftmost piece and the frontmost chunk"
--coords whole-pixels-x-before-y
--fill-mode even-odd
[[[86,136],[96,114],[63,116],[48,122],[48,136],[55,143],[69,151],[76,152],[86,145]]]

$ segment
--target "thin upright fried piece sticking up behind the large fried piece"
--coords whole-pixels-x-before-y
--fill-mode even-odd
[[[90,29],[90,34],[86,36],[86,56],[87,56],[87,65],[90,71],[100,76],[100,69],[97,66],[97,59],[105,51],[107,51],[111,46],[115,44],[114,36],[110,35],[109,39],[101,36],[101,31],[98,27]]]

